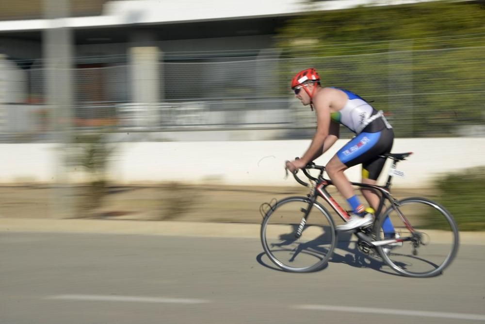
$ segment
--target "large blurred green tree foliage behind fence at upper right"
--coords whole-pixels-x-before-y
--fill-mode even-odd
[[[323,84],[348,87],[390,112],[398,136],[483,125],[484,9],[434,1],[309,12],[278,34],[291,58],[282,79],[311,64]]]

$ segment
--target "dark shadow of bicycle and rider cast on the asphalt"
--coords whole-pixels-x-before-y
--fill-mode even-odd
[[[295,226],[297,227],[298,225]],[[286,260],[290,264],[301,254],[320,257],[321,259],[328,255],[328,249],[323,246],[324,244],[322,244],[322,242],[330,241],[329,229],[324,229],[323,235],[320,235],[313,240],[304,243],[297,243],[298,239],[296,239],[294,236],[296,227],[294,227],[290,233],[280,235],[277,243],[268,243],[268,245],[270,245],[269,249],[272,253],[286,252],[291,254],[291,257]],[[357,248],[357,241],[352,237],[352,233],[339,233],[337,239],[337,246],[335,247],[329,261],[322,268],[316,271],[326,269],[329,266],[329,263],[343,263],[356,268],[370,268],[382,273],[398,275],[391,269],[383,269],[383,267],[386,267],[387,265],[380,258],[380,256],[365,255],[359,251]],[[263,256],[265,255],[266,253],[262,252],[256,257],[256,260],[260,265],[272,270],[284,271],[279,267],[276,267],[270,260],[268,260],[268,262],[264,262]]]

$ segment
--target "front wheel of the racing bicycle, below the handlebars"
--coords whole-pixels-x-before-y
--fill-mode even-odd
[[[307,208],[311,207],[301,236]],[[261,224],[261,243],[275,265],[289,272],[322,269],[336,245],[335,224],[319,203],[307,197],[289,197],[270,208]]]

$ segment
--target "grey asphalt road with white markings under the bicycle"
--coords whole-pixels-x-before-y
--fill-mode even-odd
[[[0,234],[1,324],[485,323],[484,246],[405,278],[336,250],[285,273],[259,239]]]

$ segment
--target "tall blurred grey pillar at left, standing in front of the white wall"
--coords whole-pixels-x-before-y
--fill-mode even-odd
[[[51,116],[51,130],[59,143],[56,150],[56,170],[52,215],[55,218],[73,217],[73,195],[67,169],[67,153],[72,143],[72,31],[66,24],[69,0],[44,0],[45,18],[49,27],[43,31],[43,58],[46,68],[46,102]]]

